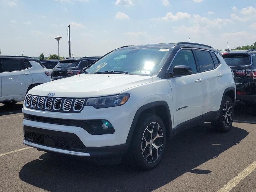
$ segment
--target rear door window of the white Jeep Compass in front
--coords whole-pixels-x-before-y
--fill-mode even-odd
[[[195,50],[195,53],[201,71],[213,69],[215,67],[209,51]]]

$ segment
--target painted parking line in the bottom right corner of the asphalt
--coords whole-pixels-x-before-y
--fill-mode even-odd
[[[247,175],[253,172],[256,169],[256,161],[246,167],[242,172],[240,172],[236,177],[229,181],[217,192],[229,192],[231,191],[238,183],[240,183]]]

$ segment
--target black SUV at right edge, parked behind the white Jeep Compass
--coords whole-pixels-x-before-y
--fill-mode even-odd
[[[236,100],[256,104],[256,49],[222,51],[221,55],[234,72]]]

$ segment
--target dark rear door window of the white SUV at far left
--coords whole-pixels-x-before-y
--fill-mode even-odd
[[[1,59],[3,72],[20,71],[26,69],[25,63],[20,59]]]

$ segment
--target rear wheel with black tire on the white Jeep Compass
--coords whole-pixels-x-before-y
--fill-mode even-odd
[[[219,132],[227,132],[233,123],[234,103],[229,96],[225,96],[221,104],[220,114],[217,121],[211,123],[212,127]]]

